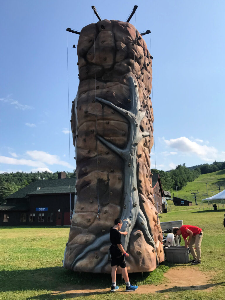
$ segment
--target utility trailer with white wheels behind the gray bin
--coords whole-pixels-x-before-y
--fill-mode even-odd
[[[161,222],[160,226],[163,232],[163,245],[164,246],[180,246],[181,237],[180,235],[174,236],[173,228],[181,227],[183,224],[183,220],[178,221],[170,221],[170,222]]]

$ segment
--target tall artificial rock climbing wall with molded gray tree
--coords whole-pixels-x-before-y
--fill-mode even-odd
[[[76,199],[63,266],[110,273],[109,232],[119,217],[128,272],[152,271],[164,261],[150,171],[152,56],[135,27],[116,20],[85,26],[77,55]]]

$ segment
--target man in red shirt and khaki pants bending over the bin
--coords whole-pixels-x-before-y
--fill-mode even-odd
[[[196,226],[191,225],[182,225],[179,227],[173,228],[174,235],[182,235],[184,238],[185,248],[189,246],[190,253],[193,256],[193,259],[190,261],[193,265],[201,263],[201,243],[203,232],[202,229]],[[188,240],[187,237],[189,236]],[[196,248],[196,252],[195,249]]]

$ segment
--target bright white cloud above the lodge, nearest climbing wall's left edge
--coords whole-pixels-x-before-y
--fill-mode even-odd
[[[47,163],[49,165],[57,164],[64,167],[70,167],[70,164],[66,161],[61,161],[58,155],[52,155],[44,151],[27,151],[26,154],[28,154],[31,158],[34,160],[38,160],[42,163]],[[39,166],[41,167],[41,166]]]

